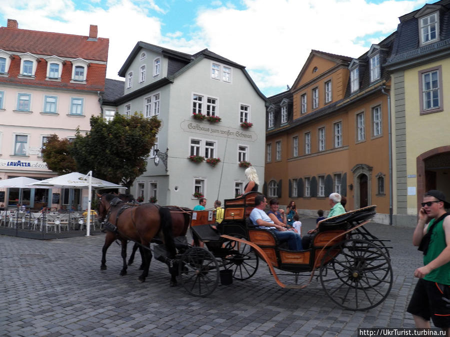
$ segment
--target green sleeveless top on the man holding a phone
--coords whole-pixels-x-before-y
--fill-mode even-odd
[[[444,218],[445,219],[445,218]],[[433,261],[437,256],[447,247],[445,243],[445,233],[442,228],[444,219],[439,221],[433,228],[431,233],[431,239],[429,241],[428,251],[423,256],[423,264],[427,265]],[[432,219],[427,229],[431,227],[435,219]],[[443,285],[450,285],[450,262],[446,263],[439,268],[434,269],[429,274],[426,274],[423,278],[427,281],[437,282]]]

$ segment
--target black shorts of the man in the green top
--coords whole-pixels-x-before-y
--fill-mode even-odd
[[[437,328],[449,328],[450,286],[419,279],[406,311],[426,321],[431,318]]]

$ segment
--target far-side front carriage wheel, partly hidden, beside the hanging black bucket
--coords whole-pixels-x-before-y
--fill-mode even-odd
[[[239,234],[230,234],[238,239],[245,239]],[[236,280],[247,280],[251,278],[258,269],[259,260],[256,252],[250,245],[242,242],[228,241],[225,249],[229,254],[222,259],[225,269],[233,271],[233,278]]]

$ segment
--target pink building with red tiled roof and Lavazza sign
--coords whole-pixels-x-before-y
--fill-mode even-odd
[[[101,114],[108,44],[96,25],[88,36],[19,29],[11,19],[0,27],[0,179],[56,175],[40,149],[51,134],[70,138],[77,127],[89,130],[90,116]],[[52,192],[28,189],[22,200],[35,208],[82,203],[79,190]],[[18,193],[0,189],[0,205],[15,205]]]

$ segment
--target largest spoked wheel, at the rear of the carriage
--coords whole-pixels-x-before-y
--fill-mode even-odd
[[[392,287],[390,259],[368,241],[344,240],[322,258],[320,283],[331,301],[344,309],[374,308]]]

